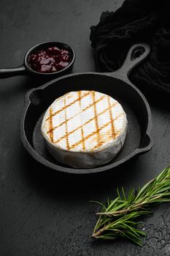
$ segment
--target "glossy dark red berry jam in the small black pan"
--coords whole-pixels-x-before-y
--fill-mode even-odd
[[[57,72],[67,67],[70,61],[69,51],[55,46],[37,50],[28,57],[31,69],[41,73]]]

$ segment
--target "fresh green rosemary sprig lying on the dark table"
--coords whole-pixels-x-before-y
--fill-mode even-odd
[[[102,206],[102,209],[97,213],[99,218],[92,237],[101,239],[124,237],[142,246],[141,236],[145,236],[145,233],[137,228],[139,222],[134,222],[134,219],[151,214],[151,206],[164,202],[170,202],[170,165],[137,191],[130,189],[125,196],[123,188],[121,193],[117,189],[117,198],[108,199],[107,206],[96,202]]]

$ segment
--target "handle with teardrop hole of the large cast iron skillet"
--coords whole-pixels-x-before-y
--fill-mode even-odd
[[[109,73],[114,78],[119,78],[121,80],[125,80],[126,82],[130,82],[128,80],[128,75],[137,64],[148,56],[150,53],[150,45],[145,43],[138,43],[132,45],[131,48],[128,50],[128,54],[125,58],[123,66],[120,69],[117,69],[115,72]]]

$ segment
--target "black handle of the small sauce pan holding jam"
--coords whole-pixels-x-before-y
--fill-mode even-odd
[[[15,75],[26,75],[25,65],[22,65],[20,67],[0,69],[0,79],[1,78],[10,78]]]

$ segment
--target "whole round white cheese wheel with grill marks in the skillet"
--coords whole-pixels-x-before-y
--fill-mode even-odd
[[[59,162],[92,168],[123,147],[127,118],[119,102],[98,91],[71,91],[55,99],[42,120],[47,149]]]

